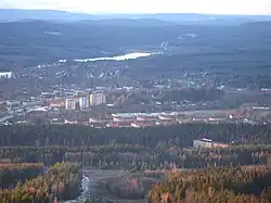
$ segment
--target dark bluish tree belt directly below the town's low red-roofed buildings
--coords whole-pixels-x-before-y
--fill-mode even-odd
[[[180,148],[192,145],[194,139],[208,137],[230,143],[269,143],[271,126],[249,124],[182,124],[146,128],[90,128],[88,126],[14,125],[0,127],[1,147],[69,148],[109,143],[141,144],[154,148],[169,140]]]

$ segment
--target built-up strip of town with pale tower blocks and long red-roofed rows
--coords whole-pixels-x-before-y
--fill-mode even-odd
[[[10,74],[9,77],[1,79],[7,81],[11,79],[11,76]],[[178,90],[184,94],[186,90],[197,91],[197,89],[179,88]],[[158,98],[158,93],[170,91],[165,87],[153,87],[147,90],[139,87],[95,87],[93,89],[74,87],[41,91],[37,97],[27,97],[20,92],[23,99],[0,102],[0,123],[12,125],[38,122],[61,125],[82,124],[92,127],[146,127],[201,122],[270,122],[269,106],[261,106],[257,103],[244,103],[236,109],[216,110],[212,107],[217,101],[182,102],[172,101],[170,98],[155,99],[155,97]],[[246,90],[236,91],[243,93]],[[268,89],[261,90],[262,93],[268,91]],[[137,97],[138,101],[134,101]]]

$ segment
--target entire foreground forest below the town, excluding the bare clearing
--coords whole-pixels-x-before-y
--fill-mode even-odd
[[[268,125],[186,124],[140,129],[22,125],[1,126],[0,132],[0,200],[4,203],[76,199],[82,167],[130,170],[133,177],[112,179],[107,190],[125,198],[149,193],[154,203],[271,202]],[[230,147],[193,148],[193,140],[201,138]],[[166,180],[152,187],[144,188],[137,177],[164,169]]]

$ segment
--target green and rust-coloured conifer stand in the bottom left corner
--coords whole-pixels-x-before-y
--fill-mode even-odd
[[[1,203],[50,203],[56,196],[61,200],[70,200],[79,194],[81,173],[76,164],[57,163],[36,178],[33,178],[29,173],[28,177],[27,173],[17,177],[20,169],[23,174],[24,172],[35,172],[40,166],[42,165],[10,164],[1,170],[1,173],[10,170],[5,181],[17,181],[17,183],[0,190]],[[3,178],[1,180],[2,186],[7,183]]]

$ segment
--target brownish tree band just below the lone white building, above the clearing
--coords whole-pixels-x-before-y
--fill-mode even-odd
[[[154,149],[137,144],[106,144],[98,147],[4,147],[0,161],[11,163],[57,162],[80,163],[95,169],[163,169],[203,168],[216,163],[225,165],[261,165],[268,162],[271,144],[237,144],[225,149],[183,149],[173,143],[159,143]]]

